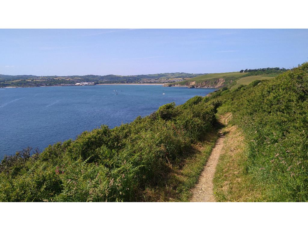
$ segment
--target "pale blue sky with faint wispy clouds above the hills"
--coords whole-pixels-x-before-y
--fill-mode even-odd
[[[0,74],[219,73],[308,61],[307,29],[0,29]]]

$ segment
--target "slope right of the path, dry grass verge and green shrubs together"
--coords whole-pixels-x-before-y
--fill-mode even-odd
[[[212,95],[222,102],[218,114],[231,111],[236,125],[226,130],[214,179],[218,201],[308,201],[307,70],[304,63]]]

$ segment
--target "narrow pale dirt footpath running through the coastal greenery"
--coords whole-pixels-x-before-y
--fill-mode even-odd
[[[221,118],[221,122],[227,124],[231,115],[231,113],[226,114]],[[207,161],[203,171],[201,172],[201,175],[199,176],[198,183],[192,189],[192,202],[215,202],[213,193],[213,178],[225,139],[225,136],[222,134],[222,129],[219,130],[219,134],[220,137],[216,141],[211,156],[209,157],[209,160]]]

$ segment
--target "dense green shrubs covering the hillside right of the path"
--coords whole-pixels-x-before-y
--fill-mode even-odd
[[[247,171],[268,201],[308,201],[308,63],[221,95],[249,144]]]

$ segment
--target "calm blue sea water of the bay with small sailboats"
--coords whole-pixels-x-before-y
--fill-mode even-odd
[[[0,160],[27,146],[42,151],[101,124],[113,128],[149,115],[163,104],[179,105],[214,90],[160,85],[2,88]]]

